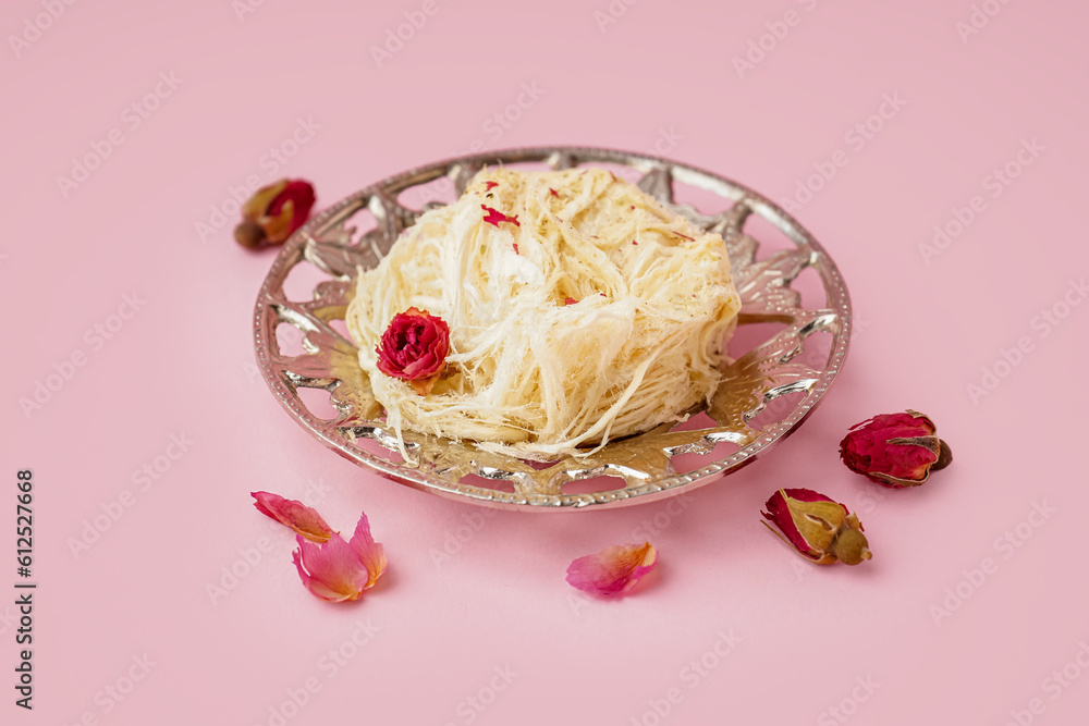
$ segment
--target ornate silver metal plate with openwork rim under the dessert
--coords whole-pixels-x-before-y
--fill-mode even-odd
[[[378,263],[401,230],[421,209],[441,206],[436,194],[460,196],[485,164],[566,169],[604,165],[637,181],[663,204],[726,242],[742,311],[734,341],[747,327],[776,323],[736,354],[706,411],[684,424],[665,424],[610,442],[598,453],[547,466],[487,454],[472,442],[405,432],[408,459],[396,435],[384,428],[382,407],[356,359],[355,344],[342,333],[357,268]],[[700,211],[685,202],[701,195],[714,207]],[[778,230],[785,243],[767,251],[749,226]],[[368,224],[369,222],[369,224]],[[369,226],[369,229],[368,229]],[[764,235],[767,236],[767,235]],[[761,247],[764,244],[764,247]],[[290,299],[289,275],[301,267],[320,272],[306,284],[306,299]],[[819,274],[824,300],[803,305],[792,287],[807,269]],[[301,349],[283,349],[278,327],[294,328]],[[756,331],[766,331],[762,325]],[[828,335],[817,335],[827,333]],[[706,484],[767,453],[820,402],[847,354],[851,300],[824,249],[786,212],[763,196],[727,179],[651,156],[578,147],[491,151],[441,161],[368,186],[329,207],[299,229],[280,250],[254,312],[257,361],[269,387],[303,428],[347,459],[416,489],[475,504],[523,510],[586,509],[654,501]],[[290,336],[289,336],[290,337]],[[751,336],[750,336],[751,337]],[[822,340],[823,345],[817,341]],[[307,405],[301,391],[328,393],[321,406]],[[325,393],[321,395],[325,396]],[[306,396],[310,398],[310,396]],[[331,407],[330,407],[331,406]],[[702,421],[702,423],[700,423]],[[697,427],[697,428],[693,428]],[[575,491],[572,491],[575,490]]]

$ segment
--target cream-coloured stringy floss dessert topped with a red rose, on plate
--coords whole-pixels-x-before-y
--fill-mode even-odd
[[[497,168],[359,271],[346,319],[399,435],[546,460],[683,420],[739,307],[722,238],[636,186]]]

